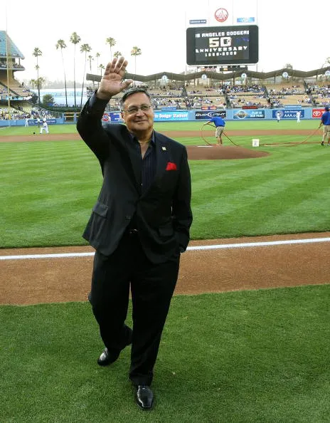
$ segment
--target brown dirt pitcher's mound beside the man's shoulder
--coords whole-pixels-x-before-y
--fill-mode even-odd
[[[249,150],[244,147],[227,145],[188,145],[189,160],[230,160],[230,159],[255,159],[265,157],[270,153],[265,151]]]

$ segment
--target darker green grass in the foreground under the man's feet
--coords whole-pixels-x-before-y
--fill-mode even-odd
[[[328,422],[329,301],[330,285],[175,296],[151,414],[134,404],[130,348],[97,366],[87,301],[1,306],[0,420]]]

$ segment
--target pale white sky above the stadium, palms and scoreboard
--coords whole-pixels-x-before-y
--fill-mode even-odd
[[[330,56],[330,1],[315,3],[314,9],[311,5],[301,0],[4,0],[0,30],[8,32],[25,56],[21,63],[26,71],[15,73],[20,81],[36,78],[36,47],[43,53],[38,58],[39,75],[50,81],[64,79],[60,50],[55,48],[59,39],[67,44],[63,50],[65,72],[67,80],[73,80],[73,32],[81,38],[75,53],[75,78],[81,82],[85,53],[80,53],[80,46],[90,45],[87,56],[95,58],[95,53],[100,53],[98,61],[92,61],[92,70],[89,63],[86,68],[87,73],[100,74],[97,64],[105,66],[110,61],[110,46],[105,42],[110,37],[116,41],[112,54],[120,51],[127,58],[129,73],[182,73],[189,69],[188,18],[203,19],[219,8],[233,8],[245,16],[255,15],[259,27],[259,61],[250,65],[250,70],[274,71],[290,63],[299,71],[311,71],[323,66]],[[228,25],[235,24],[228,20]],[[141,56],[131,56],[133,46],[141,49]]]

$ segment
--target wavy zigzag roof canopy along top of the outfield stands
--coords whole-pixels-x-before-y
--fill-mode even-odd
[[[134,73],[127,73],[125,75],[126,79],[137,80],[139,82],[149,82],[151,80],[159,80],[166,76],[169,80],[192,80],[201,78],[202,75],[206,75],[207,78],[211,78],[212,80],[229,80],[233,78],[240,78],[240,76],[245,73],[248,78],[256,78],[260,80],[265,80],[269,78],[275,78],[277,76],[282,76],[283,73],[287,73],[288,77],[294,78],[312,78],[314,76],[324,75],[326,71],[330,71],[330,66],[325,68],[314,69],[313,71],[297,71],[295,69],[289,68],[282,68],[277,69],[277,71],[271,72],[255,72],[255,71],[247,71],[247,70],[240,70],[230,73],[218,73],[218,72],[211,72],[211,71],[202,71],[202,72],[194,72],[194,73],[171,73],[171,72],[161,72],[161,73],[154,73],[152,75],[134,75]],[[87,73],[86,80],[92,80],[94,82],[100,82],[101,80],[100,75],[92,75],[91,73]]]

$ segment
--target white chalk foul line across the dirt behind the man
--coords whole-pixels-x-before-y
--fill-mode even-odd
[[[216,249],[243,249],[248,247],[273,246],[285,244],[312,244],[316,242],[329,242],[330,238],[312,238],[312,239],[287,239],[283,241],[265,241],[265,242],[242,242],[238,244],[218,244],[191,246],[187,251],[193,250],[216,250]],[[21,256],[0,256],[0,260],[21,260],[26,258],[69,258],[69,257],[90,257],[94,256],[94,252],[90,253],[62,253],[62,254],[23,254]]]

